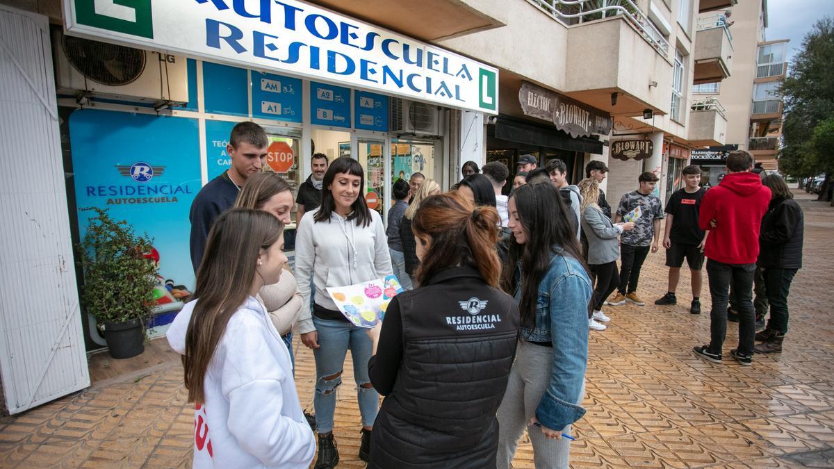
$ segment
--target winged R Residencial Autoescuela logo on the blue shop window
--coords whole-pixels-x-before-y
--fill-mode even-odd
[[[133,184],[88,185],[88,197],[107,198],[108,205],[173,204],[178,194],[193,194],[188,184],[150,184],[151,179],[165,173],[164,166],[153,166],[143,161],[117,164],[118,174],[133,179]]]

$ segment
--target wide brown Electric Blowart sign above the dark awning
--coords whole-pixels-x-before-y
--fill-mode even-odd
[[[526,115],[549,120],[573,138],[611,131],[608,113],[532,83],[521,83],[519,103]]]

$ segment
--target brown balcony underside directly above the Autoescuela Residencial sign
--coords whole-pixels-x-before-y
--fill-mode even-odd
[[[480,0],[316,0],[314,3],[427,42],[505,25],[501,8]]]

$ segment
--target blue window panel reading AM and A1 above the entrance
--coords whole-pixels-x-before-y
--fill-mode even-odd
[[[301,80],[253,70],[252,117],[301,122]]]

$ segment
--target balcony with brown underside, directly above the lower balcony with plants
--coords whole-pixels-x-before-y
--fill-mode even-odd
[[[726,17],[714,14],[698,18],[693,83],[720,82],[731,75],[732,35]]]

